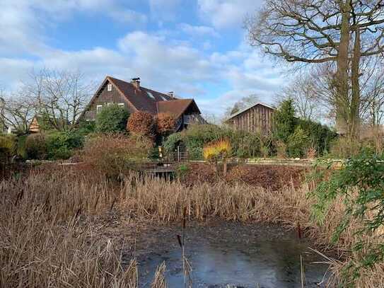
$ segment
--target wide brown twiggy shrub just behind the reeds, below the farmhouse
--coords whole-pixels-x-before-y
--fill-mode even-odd
[[[100,173],[117,178],[125,171],[135,170],[136,163],[147,158],[151,143],[144,137],[138,139],[122,134],[96,135],[87,139],[79,156]]]

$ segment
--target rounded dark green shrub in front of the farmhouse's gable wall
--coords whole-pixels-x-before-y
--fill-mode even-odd
[[[103,108],[96,116],[96,131],[100,133],[121,133],[125,131],[129,112],[117,104]]]

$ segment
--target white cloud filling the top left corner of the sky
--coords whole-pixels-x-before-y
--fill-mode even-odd
[[[64,21],[74,11],[106,13],[115,21],[145,23],[144,14],[122,7],[118,0],[5,0],[0,9],[0,54],[29,53],[40,56],[45,45],[45,28]]]

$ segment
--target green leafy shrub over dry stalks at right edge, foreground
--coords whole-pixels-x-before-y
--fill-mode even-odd
[[[340,170],[319,171],[316,176],[322,182],[313,191],[316,204],[313,217],[323,223],[330,207],[339,198],[344,200],[344,217],[337,221],[333,242],[340,241],[342,234],[358,224],[351,245],[352,253],[342,273],[340,287],[355,285],[367,269],[383,264],[384,226],[384,158],[363,151],[345,162]],[[325,177],[327,175],[327,177]]]

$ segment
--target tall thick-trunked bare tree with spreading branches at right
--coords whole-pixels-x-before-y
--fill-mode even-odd
[[[384,50],[383,0],[266,0],[246,21],[251,45],[287,62],[329,63],[337,122],[356,137],[361,59]]]

